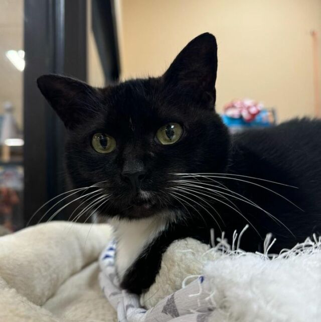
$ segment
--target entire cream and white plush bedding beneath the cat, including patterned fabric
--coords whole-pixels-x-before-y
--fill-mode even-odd
[[[242,252],[236,237],[212,249],[177,241],[138,298],[117,287],[110,234],[107,225],[55,222],[1,237],[0,321],[116,322],[115,308],[121,322],[321,319],[319,239],[273,259],[268,240],[264,254]]]

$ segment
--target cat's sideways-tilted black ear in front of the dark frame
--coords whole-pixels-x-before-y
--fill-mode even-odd
[[[80,80],[51,74],[39,77],[37,84],[68,129],[95,112],[98,91]]]

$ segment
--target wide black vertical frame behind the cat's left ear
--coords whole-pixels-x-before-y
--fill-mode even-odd
[[[25,0],[25,223],[42,204],[66,190],[65,130],[36,79],[59,73],[86,80],[86,4],[86,0]],[[57,219],[68,217],[62,212]]]

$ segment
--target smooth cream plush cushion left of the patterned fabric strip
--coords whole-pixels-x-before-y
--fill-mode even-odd
[[[0,237],[0,321],[114,322],[98,284],[108,225],[53,222]]]

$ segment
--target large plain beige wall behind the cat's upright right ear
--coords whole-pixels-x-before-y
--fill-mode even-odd
[[[122,78],[162,74],[188,41],[208,31],[218,42],[219,111],[249,97],[275,106],[279,120],[313,115],[310,31],[320,41],[321,0],[119,2]],[[320,62],[320,43],[318,50]]]

